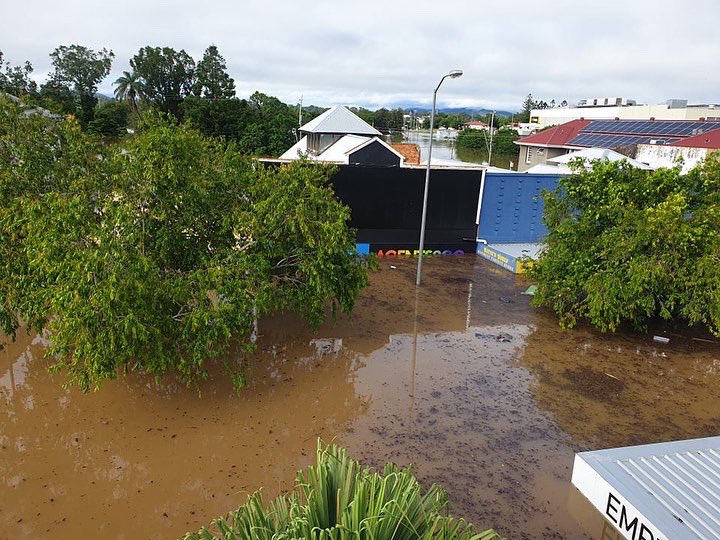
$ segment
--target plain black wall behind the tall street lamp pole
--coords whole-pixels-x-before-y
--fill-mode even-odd
[[[433,169],[430,175],[425,248],[475,252],[479,170]],[[332,180],[352,210],[357,242],[370,250],[417,249],[425,169],[347,165]]]

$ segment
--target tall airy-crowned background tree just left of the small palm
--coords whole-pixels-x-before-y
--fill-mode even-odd
[[[107,49],[93,51],[82,45],[62,45],[50,53],[54,67],[50,80],[75,93],[77,116],[83,125],[93,119],[97,86],[110,73],[114,57]]]

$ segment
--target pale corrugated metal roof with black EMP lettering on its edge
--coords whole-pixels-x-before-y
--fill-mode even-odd
[[[720,437],[581,452],[572,483],[625,538],[720,540]]]

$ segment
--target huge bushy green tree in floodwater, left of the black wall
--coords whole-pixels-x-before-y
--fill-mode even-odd
[[[330,173],[153,115],[101,147],[0,97],[2,330],[49,330],[47,358],[87,389],[120,369],[192,382],[263,314],[348,311],[367,273]]]

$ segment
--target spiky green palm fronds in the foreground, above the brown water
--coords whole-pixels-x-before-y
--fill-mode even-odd
[[[362,468],[347,450],[318,441],[317,465],[298,471],[287,495],[268,504],[260,491],[185,540],[491,540],[494,531],[447,515],[445,491],[423,490],[410,468]]]

